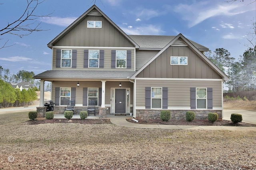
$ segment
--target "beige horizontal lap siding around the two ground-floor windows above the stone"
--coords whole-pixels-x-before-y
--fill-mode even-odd
[[[136,107],[145,106],[146,87],[167,87],[168,107],[190,107],[190,88],[212,88],[213,107],[222,107],[222,81],[136,80]]]

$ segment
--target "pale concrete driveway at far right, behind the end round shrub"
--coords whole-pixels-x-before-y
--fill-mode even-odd
[[[256,111],[248,111],[248,110],[224,110],[223,113],[223,119],[224,120],[230,120],[230,116],[232,113],[239,113],[242,114],[243,121],[244,123],[252,123],[256,124]]]

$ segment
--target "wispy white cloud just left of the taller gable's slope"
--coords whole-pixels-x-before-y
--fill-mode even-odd
[[[77,18],[76,17],[41,17],[40,20],[45,23],[49,23],[52,25],[59,25],[67,27],[71,23],[73,23]]]

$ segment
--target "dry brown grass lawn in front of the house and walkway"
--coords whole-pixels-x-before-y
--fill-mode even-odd
[[[256,131],[137,129],[113,124],[26,125],[0,115],[0,169],[241,169],[256,167]],[[9,162],[8,156],[14,156]]]

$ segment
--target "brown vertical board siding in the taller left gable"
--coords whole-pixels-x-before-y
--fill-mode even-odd
[[[87,28],[87,21],[102,21],[102,28]],[[53,46],[134,47],[122,33],[102,16],[86,16]]]

